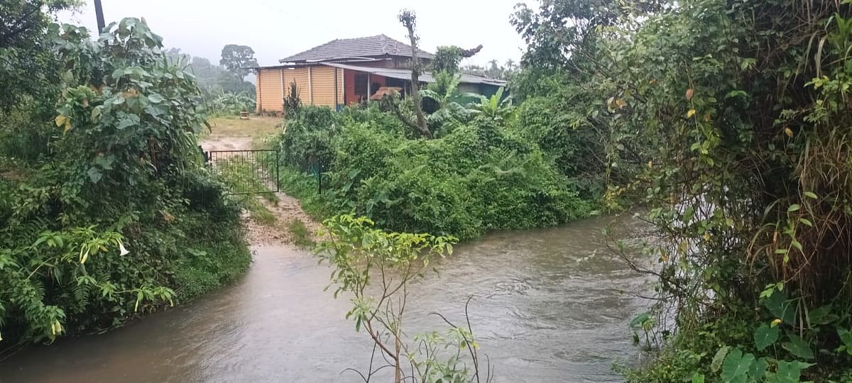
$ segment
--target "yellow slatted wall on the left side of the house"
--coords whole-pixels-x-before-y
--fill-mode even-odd
[[[283,111],[284,98],[290,93],[293,81],[296,81],[303,105],[334,107],[334,71],[337,71],[337,104],[343,104],[343,69],[331,66],[261,68],[256,87],[258,111]]]

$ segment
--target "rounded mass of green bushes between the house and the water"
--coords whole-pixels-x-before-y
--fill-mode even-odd
[[[300,152],[300,142],[326,153],[325,212],[365,215],[394,231],[471,238],[555,226],[592,210],[538,146],[489,117],[435,140],[410,138],[394,116],[375,106],[291,118],[279,138],[282,150]],[[285,166],[305,169],[308,154],[301,153],[285,153]]]

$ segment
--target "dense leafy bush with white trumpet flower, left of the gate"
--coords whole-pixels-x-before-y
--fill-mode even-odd
[[[144,21],[108,31],[93,42],[63,26],[50,49],[72,68],[61,93],[0,114],[4,137],[22,134],[5,125],[15,121],[40,134],[0,153],[3,344],[120,325],[233,280],[250,261],[240,207],[196,148],[193,77],[165,60]],[[38,112],[57,101],[55,113]]]

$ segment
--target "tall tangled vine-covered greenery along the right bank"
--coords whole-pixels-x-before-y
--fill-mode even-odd
[[[658,278],[629,380],[849,381],[849,2],[591,3],[519,7],[515,80],[586,108],[656,229],[624,254]]]

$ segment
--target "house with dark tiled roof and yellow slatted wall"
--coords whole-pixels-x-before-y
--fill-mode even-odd
[[[417,50],[424,66],[435,54]],[[393,89],[406,94],[411,88],[412,47],[385,35],[332,40],[291,54],[279,65],[256,68],[257,111],[284,111],[284,100],[296,83],[302,104],[339,108],[364,100],[377,100]],[[434,82],[429,71],[421,83]],[[492,94],[505,82],[463,74],[459,90]]]

